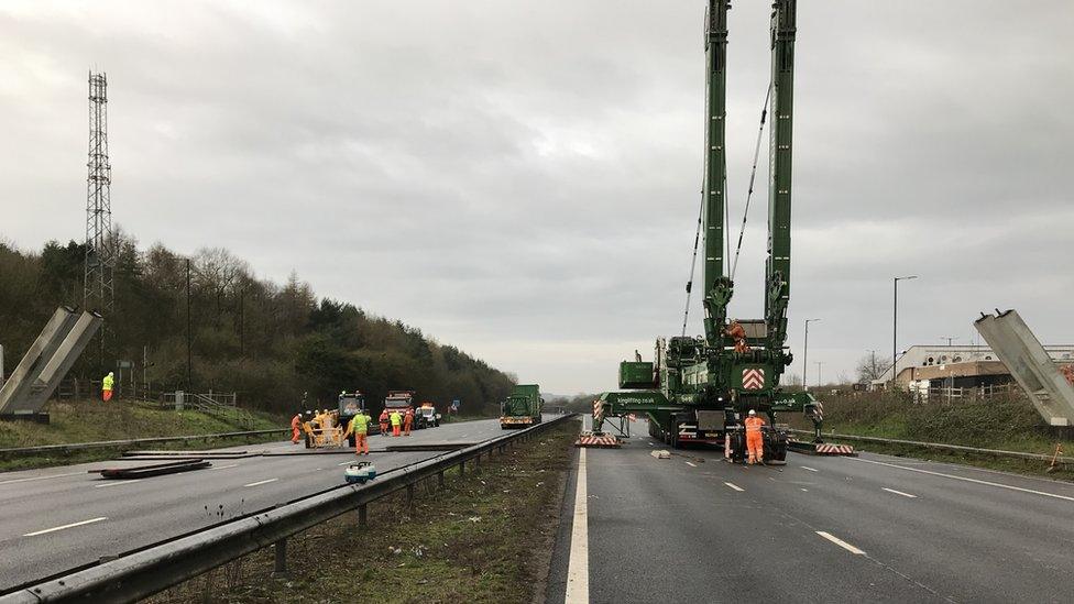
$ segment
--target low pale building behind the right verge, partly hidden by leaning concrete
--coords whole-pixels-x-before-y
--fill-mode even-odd
[[[1074,364],[1074,345],[1045,345],[1044,351],[1061,367]],[[896,384],[911,388],[969,388],[1015,381],[1007,365],[988,347],[913,345],[899,356],[896,369]],[[888,367],[872,385],[884,388],[890,381],[891,367]]]

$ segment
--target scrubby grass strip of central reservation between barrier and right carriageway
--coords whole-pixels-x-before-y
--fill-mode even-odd
[[[168,590],[150,602],[528,603],[543,594],[578,425],[550,428],[480,472],[451,471],[443,488],[419,485],[288,542],[289,573],[273,578],[261,550]]]

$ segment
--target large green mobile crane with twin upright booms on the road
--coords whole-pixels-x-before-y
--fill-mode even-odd
[[[765,318],[727,320],[734,283],[725,270],[726,155],[724,144],[728,0],[709,0],[705,14],[705,162],[702,199],[704,337],[658,339],[653,362],[620,366],[620,388],[594,403],[594,432],[606,417],[646,415],[649,432],[672,447],[703,442],[745,453],[743,419],[754,409],[767,416],[765,460],[781,461],[788,432],[776,414],[802,411],[820,441],[821,409],[808,393],[779,387],[792,356],[787,340],[790,297],[791,125],[794,78],[796,0],[776,0],[771,13],[771,112],[768,191],[768,260]],[[764,118],[761,118],[764,124]],[[759,147],[760,139],[758,139]],[[750,189],[752,189],[750,184]],[[741,245],[741,239],[739,239]],[[687,293],[692,281],[687,284]],[[688,306],[689,308],[689,306]]]

